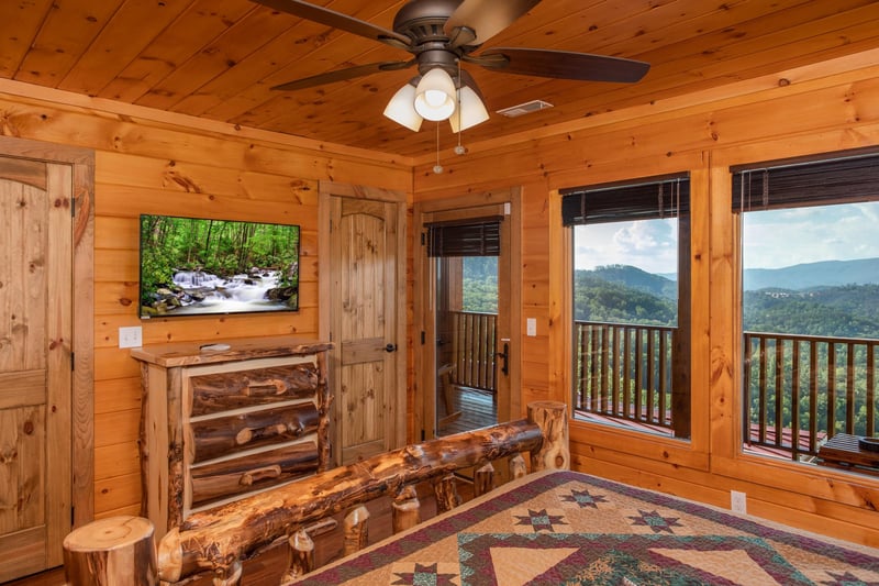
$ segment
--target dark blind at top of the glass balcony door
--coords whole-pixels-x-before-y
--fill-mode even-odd
[[[502,217],[426,224],[427,256],[500,256]]]

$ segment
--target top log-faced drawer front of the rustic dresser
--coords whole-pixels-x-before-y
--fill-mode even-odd
[[[314,397],[320,384],[318,366],[289,364],[192,376],[192,417],[290,399]]]

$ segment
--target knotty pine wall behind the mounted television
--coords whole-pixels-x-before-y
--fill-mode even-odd
[[[318,181],[411,191],[411,164],[341,146],[235,130],[192,118],[0,84],[0,133],[93,148],[94,515],[140,510],[140,363],[120,327],[144,344],[257,335],[318,338]],[[169,213],[296,223],[301,309],[219,318],[136,317],[138,215]]]

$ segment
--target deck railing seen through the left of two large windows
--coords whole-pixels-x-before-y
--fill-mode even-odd
[[[671,428],[675,328],[575,322],[575,411]]]

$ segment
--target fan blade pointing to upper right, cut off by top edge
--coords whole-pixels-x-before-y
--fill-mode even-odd
[[[443,26],[453,47],[481,45],[541,0],[464,0]]]

